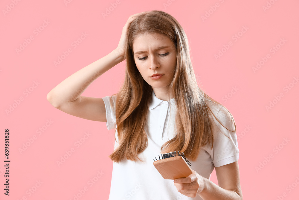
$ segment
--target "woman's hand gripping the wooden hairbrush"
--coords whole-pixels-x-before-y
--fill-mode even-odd
[[[204,177],[197,174],[194,170],[192,170],[192,172],[193,173],[186,178],[173,180],[173,184],[176,186],[178,192],[188,197],[196,197],[205,187]]]

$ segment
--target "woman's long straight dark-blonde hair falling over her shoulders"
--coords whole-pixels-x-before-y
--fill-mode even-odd
[[[144,127],[147,126],[153,89],[139,73],[132,49],[136,36],[145,33],[165,35],[176,46],[177,64],[170,88],[175,94],[177,133],[173,139],[162,145],[161,153],[181,151],[188,160],[194,161],[202,146],[209,144],[213,148],[215,126],[211,114],[216,117],[208,106],[207,100],[221,104],[205,94],[197,85],[187,35],[173,16],[161,10],[152,10],[138,16],[129,27],[128,48],[125,53],[125,80],[118,93],[111,96],[117,95],[115,116],[119,145],[109,157],[114,162],[120,162],[125,158],[135,162],[141,161],[138,154],[147,147],[147,133]],[[113,107],[112,100],[110,104]],[[228,113],[233,120],[231,113],[229,111]],[[217,121],[219,122],[218,119]],[[234,128],[236,131],[235,122]]]

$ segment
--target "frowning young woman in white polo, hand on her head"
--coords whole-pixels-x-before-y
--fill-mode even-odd
[[[125,59],[117,94],[80,95]],[[187,36],[168,13],[131,15],[117,48],[62,81],[47,99],[63,112],[116,129],[109,199],[242,199],[234,118],[198,87]],[[192,163],[190,176],[166,180],[155,169],[153,158],[172,151]],[[209,180],[214,168],[219,186]]]

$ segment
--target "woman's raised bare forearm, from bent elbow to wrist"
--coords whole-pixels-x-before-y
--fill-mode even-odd
[[[76,100],[91,82],[121,61],[123,56],[117,49],[113,50],[63,80],[48,93],[47,100],[54,107]]]

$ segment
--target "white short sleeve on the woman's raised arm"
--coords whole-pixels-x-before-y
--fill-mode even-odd
[[[115,128],[116,126],[116,118],[115,118],[115,100],[116,100],[116,97],[113,96],[113,97],[109,97],[109,96],[106,96],[106,97],[103,97],[102,98],[104,103],[105,103],[105,108],[106,108],[106,126],[107,126],[107,129],[110,130],[110,129],[113,129]],[[113,103],[112,105],[114,106],[113,108],[110,106],[110,101],[113,99]]]

